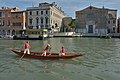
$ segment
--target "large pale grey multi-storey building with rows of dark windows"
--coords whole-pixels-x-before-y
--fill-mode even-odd
[[[64,11],[55,2],[39,3],[38,7],[27,8],[27,28],[28,29],[48,29],[50,31],[60,31]]]

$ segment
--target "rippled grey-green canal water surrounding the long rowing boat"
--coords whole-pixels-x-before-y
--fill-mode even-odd
[[[23,58],[10,48],[24,48],[24,40],[0,40],[0,80],[120,80],[120,39],[50,38],[30,40],[31,51],[42,51],[48,43],[50,52],[82,53],[68,60]]]

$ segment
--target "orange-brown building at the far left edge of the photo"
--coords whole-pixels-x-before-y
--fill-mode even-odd
[[[9,35],[11,27],[11,12],[19,11],[19,8],[2,7],[0,9],[0,35]]]

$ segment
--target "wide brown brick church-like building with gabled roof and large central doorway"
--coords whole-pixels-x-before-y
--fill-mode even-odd
[[[117,10],[89,6],[76,11],[77,31],[84,34],[117,32]]]

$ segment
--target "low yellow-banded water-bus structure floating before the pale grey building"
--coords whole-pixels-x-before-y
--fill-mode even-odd
[[[47,29],[17,30],[14,40],[44,40],[48,38]]]

